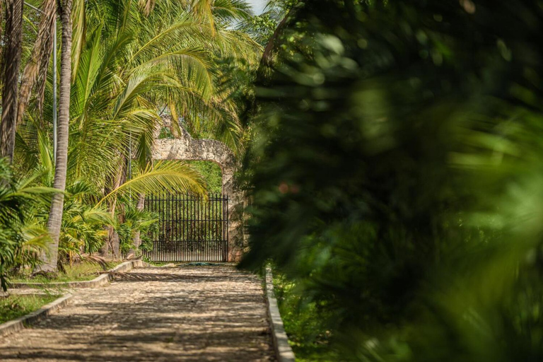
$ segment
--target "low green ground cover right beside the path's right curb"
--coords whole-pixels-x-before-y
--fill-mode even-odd
[[[296,361],[337,361],[329,346],[330,331],[322,322],[318,305],[306,303],[297,292],[296,284],[276,272],[274,291]]]

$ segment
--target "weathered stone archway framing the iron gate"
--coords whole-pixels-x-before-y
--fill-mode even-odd
[[[153,160],[197,160],[217,163],[222,171],[223,194],[228,195],[228,261],[238,262],[243,252],[243,192],[234,185],[238,161],[230,148],[214,139],[193,139],[181,129],[175,139],[155,139]]]

